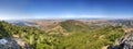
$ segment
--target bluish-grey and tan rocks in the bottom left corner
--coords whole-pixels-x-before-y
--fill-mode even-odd
[[[4,37],[0,39],[0,49],[31,49],[21,38]]]

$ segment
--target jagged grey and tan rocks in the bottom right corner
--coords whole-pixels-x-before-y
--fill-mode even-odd
[[[133,49],[133,33],[116,39],[114,46],[110,46],[108,49]]]

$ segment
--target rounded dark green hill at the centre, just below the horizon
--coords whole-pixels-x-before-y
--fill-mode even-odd
[[[83,32],[89,30],[89,26],[80,21],[68,20],[61,22],[60,25],[65,28],[68,32]]]

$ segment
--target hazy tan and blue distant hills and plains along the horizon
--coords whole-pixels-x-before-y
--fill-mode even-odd
[[[50,29],[59,25],[61,22],[68,22],[71,20],[12,20],[7,21],[8,23],[18,25],[18,26],[35,26],[35,27],[43,27],[44,29]],[[127,27],[133,27],[133,20],[124,20],[124,19],[116,19],[116,20],[103,20],[103,19],[91,19],[91,20],[74,20],[80,21],[86,25],[123,25]]]

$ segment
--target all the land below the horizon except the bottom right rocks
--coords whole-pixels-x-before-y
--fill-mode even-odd
[[[132,20],[0,21],[0,38],[4,40],[0,48],[108,49],[115,46],[119,38],[132,32]]]

